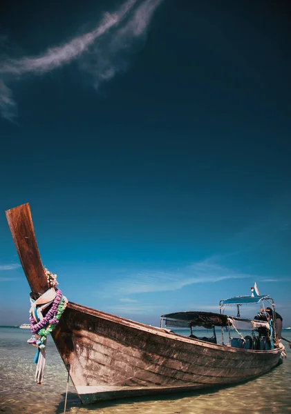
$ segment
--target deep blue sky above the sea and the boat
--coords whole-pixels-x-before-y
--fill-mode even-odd
[[[291,326],[286,4],[6,1],[0,324],[28,320],[4,211],[29,202],[73,302],[159,324],[256,281]]]

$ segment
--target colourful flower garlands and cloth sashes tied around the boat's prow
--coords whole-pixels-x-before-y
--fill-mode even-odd
[[[30,297],[30,331],[32,337],[28,339],[28,344],[37,346],[37,353],[33,362],[37,364],[35,372],[35,381],[41,384],[44,380],[44,366],[46,364],[46,337],[50,334],[55,326],[59,323],[59,319],[64,312],[68,299],[62,294],[57,286],[57,275],[53,275],[45,269],[48,279],[48,286],[51,286],[37,300]],[[42,311],[50,306],[50,310],[46,315],[42,315]]]

